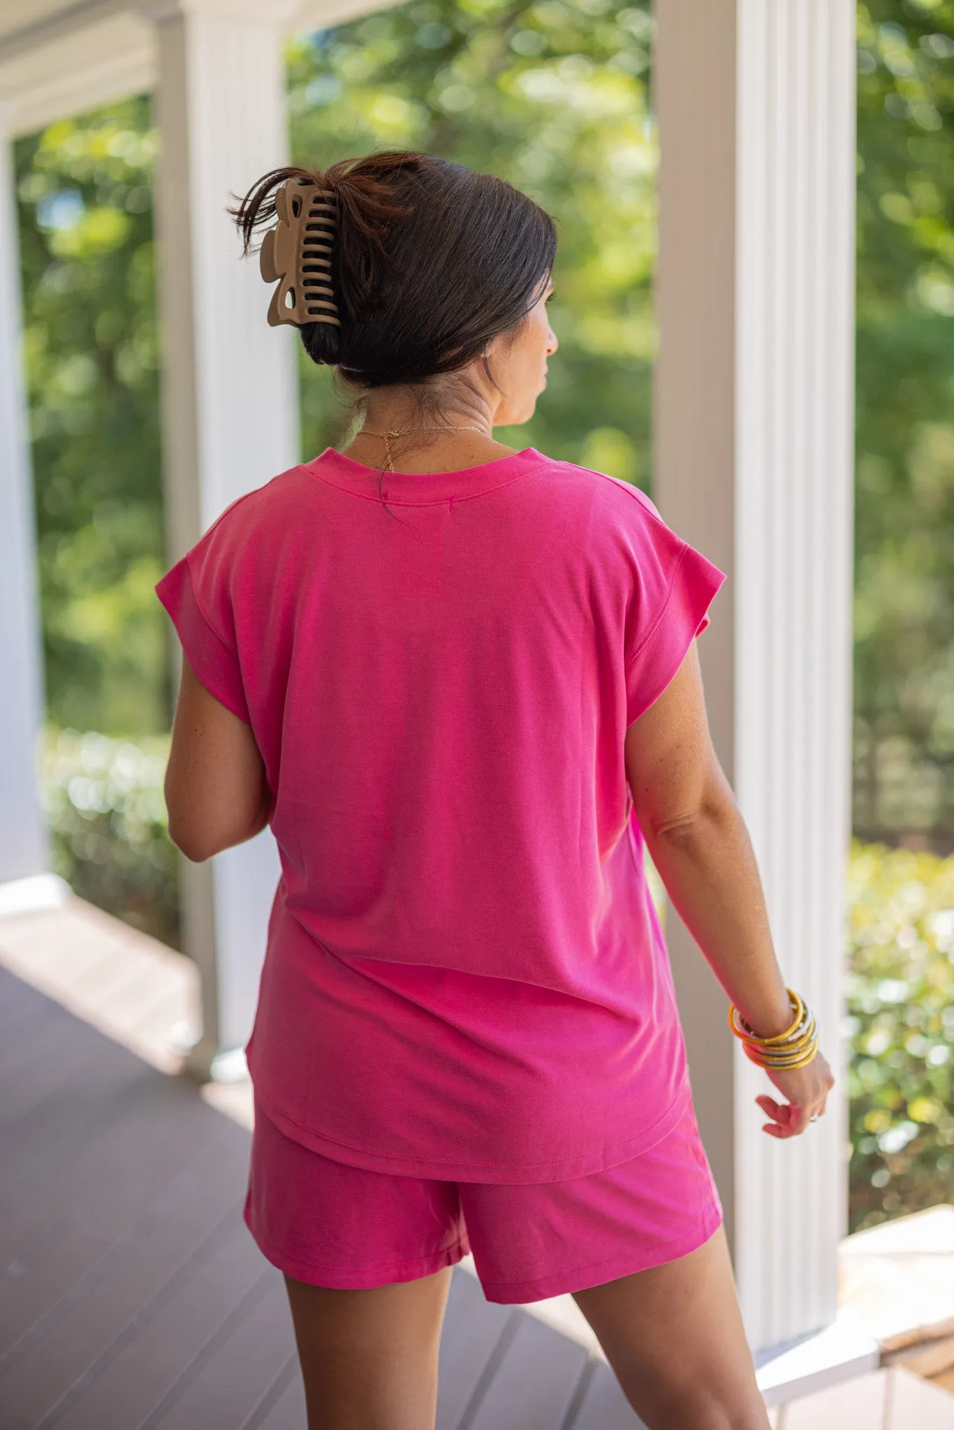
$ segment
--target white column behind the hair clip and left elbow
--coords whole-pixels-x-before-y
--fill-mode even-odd
[[[256,262],[225,209],[286,162],[286,11],[240,0],[150,6],[159,39],[157,179],[169,556],[297,460],[293,347],[265,322]],[[245,1041],[279,875],[266,831],[185,869],[185,941],[203,982],[197,1071]],[[222,1068],[222,1064],[219,1065]],[[213,1068],[215,1071],[215,1068]]]

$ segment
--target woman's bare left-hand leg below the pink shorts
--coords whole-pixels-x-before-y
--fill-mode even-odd
[[[366,1291],[285,1284],[309,1430],[433,1430],[451,1267]]]

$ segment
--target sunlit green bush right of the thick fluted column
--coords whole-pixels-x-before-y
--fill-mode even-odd
[[[954,857],[854,841],[852,1231],[954,1195]]]

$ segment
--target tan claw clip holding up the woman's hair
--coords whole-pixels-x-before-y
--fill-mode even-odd
[[[275,194],[277,223],[265,235],[259,269],[277,283],[269,326],[333,323],[340,327],[332,289],[332,245],[338,233],[335,196],[316,183],[289,179]]]

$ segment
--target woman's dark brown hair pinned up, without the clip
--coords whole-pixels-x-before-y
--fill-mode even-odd
[[[554,266],[554,220],[519,189],[402,150],[325,170],[273,169],[229,210],[246,253],[287,179],[320,183],[338,200],[340,327],[303,323],[305,350],[360,388],[466,368],[529,313]]]

